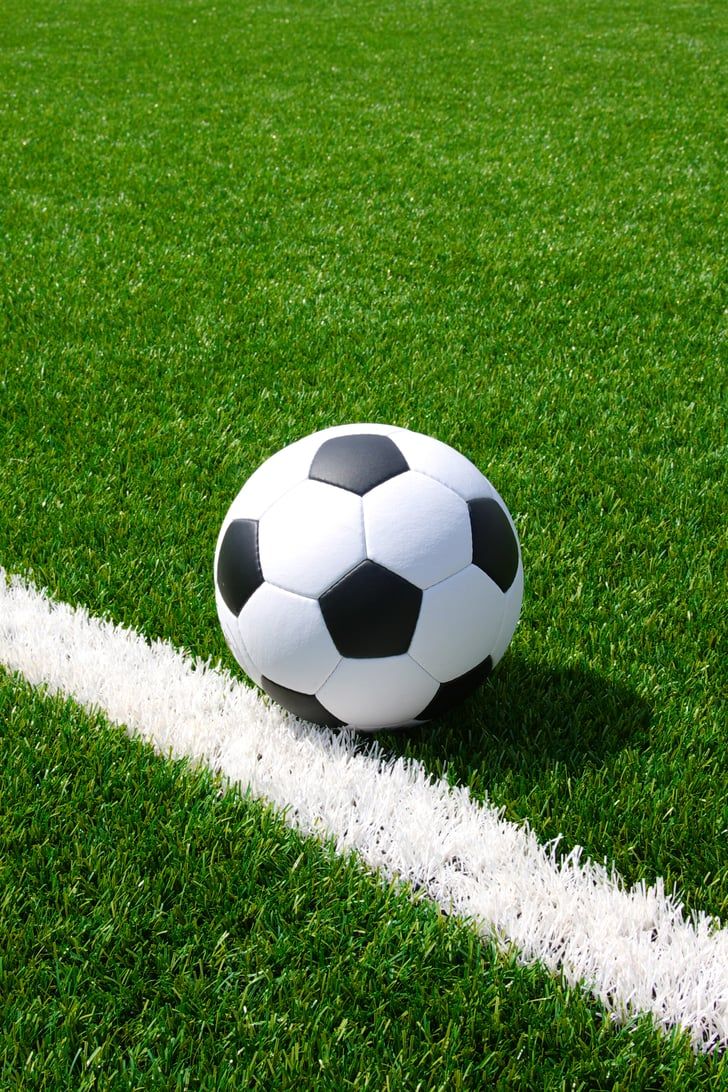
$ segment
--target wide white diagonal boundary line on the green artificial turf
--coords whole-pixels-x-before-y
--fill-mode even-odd
[[[728,1044],[728,930],[654,887],[626,888],[574,850],[557,860],[527,827],[417,762],[302,724],[227,673],[163,641],[53,603],[0,568],[0,664],[102,710],[163,755],[206,763],[305,834],[425,889],[524,962],[581,983],[617,1019],[649,1012],[696,1049]]]

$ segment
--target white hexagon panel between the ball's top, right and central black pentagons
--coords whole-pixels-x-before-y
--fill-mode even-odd
[[[367,555],[417,587],[452,577],[473,557],[470,517],[462,497],[407,471],[363,498]]]

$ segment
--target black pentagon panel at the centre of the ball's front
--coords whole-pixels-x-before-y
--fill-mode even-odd
[[[413,639],[422,592],[375,561],[362,561],[319,600],[343,656],[398,656]]]

